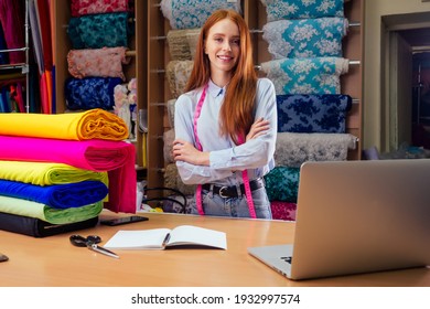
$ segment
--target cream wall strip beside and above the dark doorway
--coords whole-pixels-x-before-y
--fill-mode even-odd
[[[354,0],[353,0],[354,1]],[[365,2],[363,149],[381,149],[381,17],[430,11],[422,0],[367,0]]]

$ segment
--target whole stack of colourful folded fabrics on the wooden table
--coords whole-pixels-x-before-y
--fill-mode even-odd
[[[42,237],[136,212],[135,147],[103,109],[0,114],[0,230]]]

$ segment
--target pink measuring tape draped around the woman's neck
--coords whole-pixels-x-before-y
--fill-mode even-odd
[[[202,147],[202,145],[198,140],[198,136],[197,136],[197,119],[200,117],[200,114],[202,113],[203,103],[206,98],[206,92],[207,92],[207,85],[203,88],[203,93],[198,99],[197,106],[195,107],[194,119],[193,119],[195,143],[196,143],[196,147],[200,151],[203,151],[203,147]],[[238,142],[239,142],[239,145],[245,142],[244,134],[239,135]],[[250,185],[249,185],[248,171],[244,170],[241,172],[241,177],[244,179],[245,194],[246,194],[246,200],[248,202],[249,214],[252,219],[256,219],[257,215],[256,215],[252,194],[251,194],[251,190],[250,190]],[[198,214],[204,215],[205,213],[203,211],[203,205],[202,205],[202,184],[197,184],[196,192],[195,192],[195,202],[197,205]]]

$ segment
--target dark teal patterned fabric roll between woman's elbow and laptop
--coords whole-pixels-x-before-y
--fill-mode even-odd
[[[300,168],[276,167],[265,175],[269,201],[297,202]]]

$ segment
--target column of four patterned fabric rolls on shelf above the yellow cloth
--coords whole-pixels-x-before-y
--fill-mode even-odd
[[[114,109],[114,89],[126,82],[122,66],[133,33],[133,1],[72,0],[67,34],[71,77],[65,97],[71,110]]]

